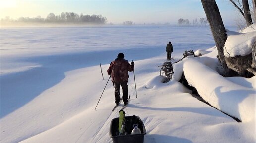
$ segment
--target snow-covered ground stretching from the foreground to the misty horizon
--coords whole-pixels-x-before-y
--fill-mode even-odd
[[[230,29],[229,29],[230,30]],[[217,51],[209,28],[135,26],[0,29],[0,142],[111,143],[114,88],[105,87],[109,63],[119,52],[135,62],[129,72],[126,116],[139,116],[144,143],[255,143],[256,78],[224,78],[215,71]],[[160,66],[172,41],[174,65],[162,83]],[[211,48],[213,47],[213,48]],[[100,72],[100,65],[104,80]],[[182,71],[205,101],[178,82]],[[123,104],[123,103],[122,103]]]

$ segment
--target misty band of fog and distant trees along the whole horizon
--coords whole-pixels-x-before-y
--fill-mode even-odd
[[[165,25],[165,26],[189,26],[189,27],[207,27],[208,21],[206,17],[198,17],[192,20],[179,18],[173,20],[175,22],[143,22],[136,23],[131,20],[123,21],[122,23],[109,22],[107,17],[102,15],[84,15],[77,14],[74,12],[62,12],[60,15],[49,13],[46,18],[41,16],[37,17],[19,17],[13,19],[12,17],[6,16],[0,19],[0,27],[65,27],[65,26],[110,26],[110,25]],[[234,26],[234,25],[226,25]]]

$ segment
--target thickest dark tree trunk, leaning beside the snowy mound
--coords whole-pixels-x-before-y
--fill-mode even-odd
[[[223,53],[223,47],[227,40],[226,30],[219,12],[219,8],[215,0],[201,0],[204,12],[206,14],[207,20],[211,27],[211,32],[218,49],[219,60],[223,67],[224,76],[229,75],[229,69],[227,67],[225,56]]]

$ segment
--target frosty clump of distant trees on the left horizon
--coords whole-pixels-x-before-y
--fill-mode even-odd
[[[25,23],[88,23],[88,24],[105,24],[107,18],[101,15],[79,15],[74,12],[62,12],[60,15],[49,13],[46,18],[37,16],[34,18],[20,17],[12,19],[9,16],[1,19],[1,22],[25,22]]]

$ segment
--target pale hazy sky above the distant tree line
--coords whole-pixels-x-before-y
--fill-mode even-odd
[[[224,24],[232,25],[239,16],[229,0],[216,0]],[[49,13],[75,12],[102,15],[107,23],[124,21],[176,24],[179,18],[206,17],[201,0],[0,0],[0,18],[47,17]],[[234,24],[235,25],[235,24]]]

